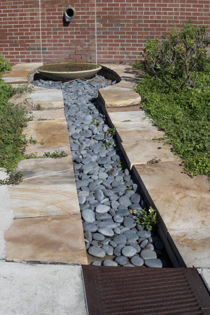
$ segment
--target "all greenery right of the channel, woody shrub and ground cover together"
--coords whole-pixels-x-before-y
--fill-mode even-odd
[[[184,160],[191,177],[210,176],[210,43],[206,26],[189,21],[180,32],[147,41],[145,78],[136,92],[153,124],[165,131],[167,143]],[[164,139],[163,139],[164,140]]]

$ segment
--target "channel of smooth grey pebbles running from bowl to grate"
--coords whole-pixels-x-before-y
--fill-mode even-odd
[[[65,83],[38,79],[31,83],[63,93],[89,263],[168,266],[157,231],[135,223],[132,210],[144,209],[145,201],[97,102],[98,89],[115,82],[100,75]]]

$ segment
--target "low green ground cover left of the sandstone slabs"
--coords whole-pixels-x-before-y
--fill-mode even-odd
[[[13,88],[4,83],[1,77],[6,70],[11,70],[11,65],[0,54],[0,169],[11,173],[24,158],[26,143],[23,141],[25,135],[22,135],[22,128],[29,119],[26,117],[26,109],[9,102],[12,95],[26,91],[27,86]],[[14,182],[16,177],[10,176],[10,179]]]

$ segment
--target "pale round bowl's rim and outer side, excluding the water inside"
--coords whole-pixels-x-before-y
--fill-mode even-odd
[[[47,71],[44,69],[39,70],[40,67],[52,66],[52,65],[62,65],[62,64],[67,64],[67,63],[89,64],[89,65],[95,65],[97,67],[95,69],[83,70],[83,71]],[[46,77],[50,78],[51,80],[59,80],[59,81],[61,80],[62,81],[62,79],[65,79],[65,81],[68,81],[68,79],[77,80],[78,78],[81,77],[80,75],[82,75],[82,74],[85,75],[85,77],[84,77],[85,79],[89,79],[89,78],[93,77],[96,73],[98,73],[101,69],[102,69],[102,67],[100,65],[90,63],[90,62],[60,62],[60,63],[53,63],[53,64],[39,66],[37,68],[37,71],[43,75],[46,74]],[[48,76],[47,76],[47,74],[48,74]],[[52,76],[50,77],[50,75],[52,75]],[[64,77],[65,75],[67,76],[66,78]]]

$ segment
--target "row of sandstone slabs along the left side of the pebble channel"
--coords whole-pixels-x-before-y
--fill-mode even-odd
[[[13,80],[20,75],[30,82],[40,64],[30,65],[14,66],[4,80],[12,73]],[[23,174],[19,185],[0,187],[4,194],[3,213],[7,216],[1,222],[0,259],[87,264],[62,92],[35,87],[32,93],[17,95],[11,101],[18,104],[20,100],[29,109],[37,104],[45,107],[28,113],[35,117],[23,130],[28,140],[26,154],[39,158],[19,162],[15,171]],[[30,137],[37,143],[31,144]],[[43,157],[44,152],[55,151],[65,151],[68,156]]]

